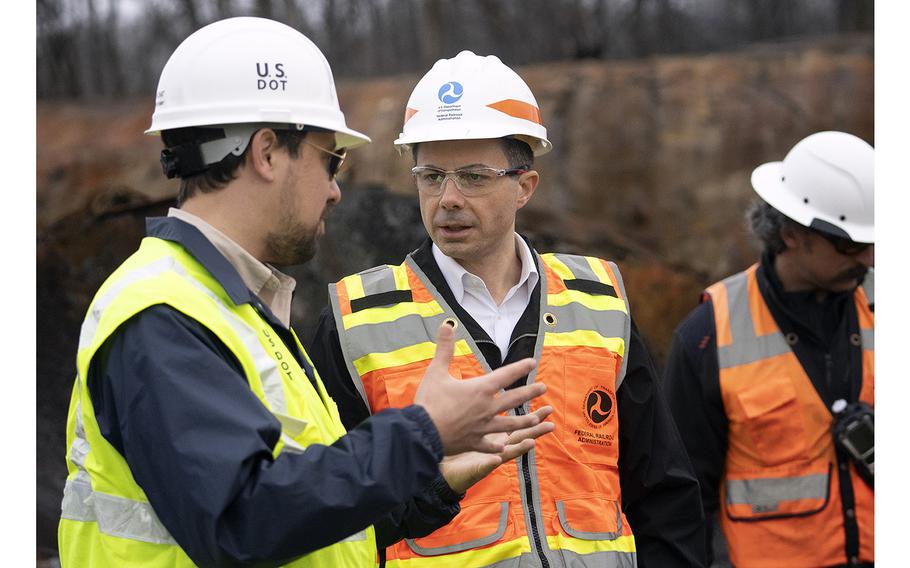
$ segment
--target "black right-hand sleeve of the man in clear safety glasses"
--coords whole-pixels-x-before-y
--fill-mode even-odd
[[[619,481],[639,568],[706,566],[698,482],[633,321],[617,392]]]

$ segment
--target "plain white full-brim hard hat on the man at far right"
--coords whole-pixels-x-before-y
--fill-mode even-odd
[[[752,187],[800,225],[855,241],[875,242],[875,150],[845,132],[817,132],[783,162],[752,172]]]

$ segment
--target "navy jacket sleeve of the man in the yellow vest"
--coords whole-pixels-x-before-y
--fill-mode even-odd
[[[201,566],[285,563],[375,523],[439,474],[442,444],[419,406],[274,459],[280,424],[237,361],[166,306],[108,340],[88,387],[102,434]]]

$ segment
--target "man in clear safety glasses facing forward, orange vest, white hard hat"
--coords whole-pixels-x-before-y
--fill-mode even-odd
[[[401,265],[329,287],[311,353],[342,419],[411,404],[446,322],[455,376],[536,359],[509,388],[547,392],[508,414],[552,407],[556,431],[470,489],[453,485],[461,513],[388,548],[387,566],[702,565],[698,485],[618,267],[538,254],[515,232],[534,158],[551,148],[528,86],[463,51],[417,83],[404,120],[395,144],[413,156],[429,238]]]

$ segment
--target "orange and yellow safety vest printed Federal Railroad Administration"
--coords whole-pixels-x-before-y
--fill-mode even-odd
[[[636,565],[617,469],[616,390],[631,326],[619,269],[563,254],[542,255],[539,264],[538,366],[528,382],[548,389],[522,412],[552,405],[556,431],[469,489],[448,525],[387,549],[389,567],[513,566],[541,557],[550,566]],[[413,402],[445,320],[455,324],[452,376],[490,372],[410,256],[348,276],[329,293],[348,370],[374,413]]]

